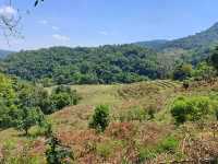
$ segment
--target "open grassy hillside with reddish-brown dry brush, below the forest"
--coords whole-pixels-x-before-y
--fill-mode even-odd
[[[177,127],[170,108],[181,95],[216,98],[217,84],[196,84],[189,91],[175,81],[72,85],[82,97],[80,104],[65,107],[48,119],[60,141],[73,151],[76,163],[196,163],[198,154],[202,161],[217,154],[217,131],[214,137],[210,129],[216,121],[210,118],[204,125],[186,122]],[[88,128],[88,122],[96,105],[102,103],[110,106],[111,120],[106,131],[98,133]],[[155,118],[146,115],[148,108],[156,110]],[[5,160],[15,156],[17,161],[28,160],[28,164],[44,164],[45,144],[37,127],[31,129],[28,137],[14,129],[0,131],[0,148],[10,152],[0,152],[9,157]]]

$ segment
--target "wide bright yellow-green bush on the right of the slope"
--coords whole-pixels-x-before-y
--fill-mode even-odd
[[[211,102],[206,96],[179,97],[174,101],[171,115],[178,125],[187,120],[197,121],[211,110]]]

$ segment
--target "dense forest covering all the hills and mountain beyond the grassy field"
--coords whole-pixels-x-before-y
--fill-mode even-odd
[[[20,51],[3,59],[0,70],[45,86],[168,79],[182,63],[195,68],[208,59],[217,42],[218,24],[215,24],[175,40]]]

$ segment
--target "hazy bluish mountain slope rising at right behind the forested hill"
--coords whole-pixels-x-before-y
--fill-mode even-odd
[[[187,37],[173,40],[140,42],[135,44],[153,48],[160,52],[161,56],[170,56],[177,59],[182,57],[184,60],[196,65],[201,60],[208,58],[210,50],[218,45],[218,23]]]

